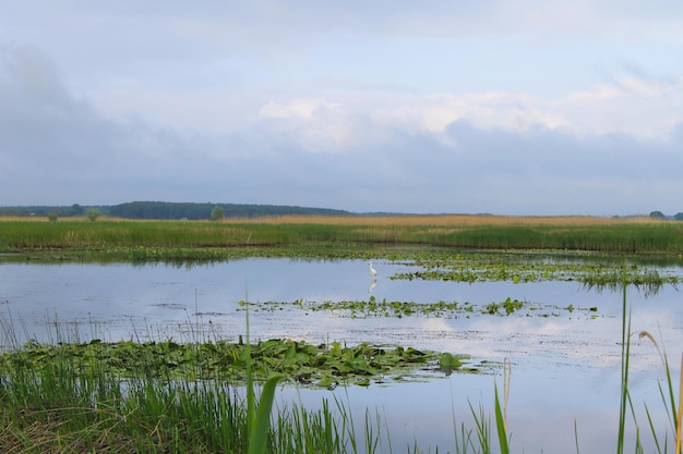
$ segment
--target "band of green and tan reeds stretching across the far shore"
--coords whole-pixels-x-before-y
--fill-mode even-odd
[[[0,251],[97,253],[125,259],[221,259],[225,249],[256,254],[319,255],[384,246],[476,249],[683,253],[683,224],[649,218],[393,216],[288,216],[257,220],[131,221],[0,219]],[[203,249],[203,250],[202,250]]]

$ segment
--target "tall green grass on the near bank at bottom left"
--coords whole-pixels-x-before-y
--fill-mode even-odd
[[[83,371],[69,358],[46,358],[38,368],[17,360],[0,378],[0,452],[373,452],[358,443],[369,437],[376,445],[373,426],[355,433],[343,406],[272,413],[274,383],[254,395],[249,414],[243,388],[219,380],[122,380],[106,365]]]

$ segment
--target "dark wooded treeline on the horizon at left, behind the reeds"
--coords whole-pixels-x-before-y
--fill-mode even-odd
[[[111,206],[62,206],[0,207],[0,216],[69,218],[84,216],[88,210],[98,210],[101,214],[125,219],[211,219],[216,207],[223,209],[225,218],[261,218],[284,214],[351,214],[349,211],[328,208],[307,208],[279,205],[245,204],[194,204],[170,201],[131,201]]]

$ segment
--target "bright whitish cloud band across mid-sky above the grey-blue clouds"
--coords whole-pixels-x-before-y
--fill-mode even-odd
[[[143,114],[178,130],[235,133],[263,120],[279,120],[280,133],[292,133],[292,138],[302,140],[311,150],[357,146],[363,137],[376,136],[373,127],[439,135],[456,121],[467,121],[483,130],[524,133],[560,128],[578,135],[624,134],[639,139],[666,139],[683,122],[683,111],[679,108],[683,103],[683,78],[624,77],[550,99],[510,93],[426,96],[358,93],[279,98],[262,100],[257,96],[212,89],[120,90],[96,102],[111,116]]]

